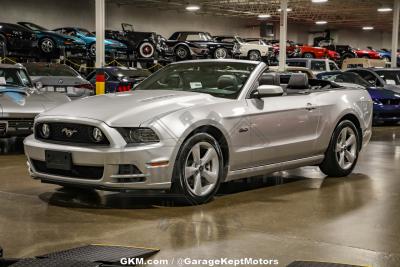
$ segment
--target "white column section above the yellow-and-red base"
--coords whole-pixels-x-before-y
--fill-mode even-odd
[[[105,65],[104,31],[105,31],[105,0],[96,1],[96,68]]]

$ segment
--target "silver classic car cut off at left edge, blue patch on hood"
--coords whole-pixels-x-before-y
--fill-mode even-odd
[[[22,65],[0,64],[0,137],[30,135],[36,115],[69,101],[35,89]]]

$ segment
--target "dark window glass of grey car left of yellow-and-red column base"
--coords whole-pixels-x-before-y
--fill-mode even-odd
[[[25,67],[30,76],[79,76],[75,70],[62,64],[26,64]]]

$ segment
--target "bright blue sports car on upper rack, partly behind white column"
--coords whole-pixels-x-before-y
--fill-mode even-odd
[[[88,55],[91,57],[96,55],[96,35],[90,31],[78,27],[62,27],[54,29],[54,31],[62,35],[79,38],[85,42]],[[104,45],[108,55],[114,55],[115,57],[126,57],[128,55],[128,48],[123,43],[106,39],[104,40]]]

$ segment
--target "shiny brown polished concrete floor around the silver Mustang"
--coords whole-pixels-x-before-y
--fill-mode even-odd
[[[157,247],[154,259],[273,258],[400,266],[400,127],[374,129],[354,174],[315,168],[224,185],[216,199],[70,192],[0,155],[0,245],[29,257],[84,244]]]

